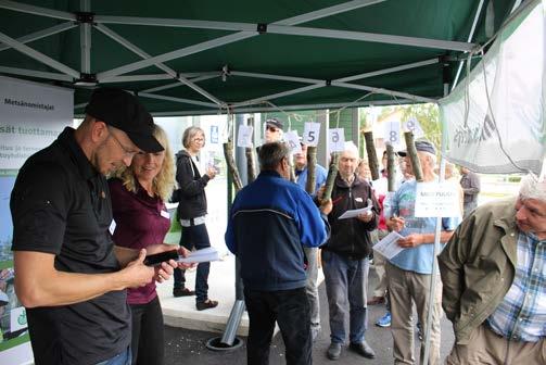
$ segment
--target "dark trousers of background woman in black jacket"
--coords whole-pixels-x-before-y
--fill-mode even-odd
[[[202,250],[211,247],[208,232],[204,224],[198,226],[182,227],[182,236],[180,237],[180,246],[188,250]],[[208,272],[211,263],[199,263],[198,273],[195,276],[195,300],[204,302],[208,299]],[[175,288],[186,287],[186,270],[175,268]]]

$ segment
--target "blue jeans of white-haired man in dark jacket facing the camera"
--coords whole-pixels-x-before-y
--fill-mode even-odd
[[[330,338],[333,343],[346,339],[345,318],[348,301],[348,339],[351,343],[364,341],[368,328],[367,295],[368,257],[350,260],[331,251],[322,251],[326,293],[330,312]]]

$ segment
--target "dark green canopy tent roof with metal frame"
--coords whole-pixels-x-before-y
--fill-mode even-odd
[[[0,73],[155,115],[432,101],[518,0],[0,0]],[[470,41],[469,41],[470,40]]]

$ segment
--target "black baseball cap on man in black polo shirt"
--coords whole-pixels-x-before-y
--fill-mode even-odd
[[[144,152],[164,148],[153,137],[154,124],[150,113],[136,97],[116,88],[98,88],[91,95],[86,114],[120,129]]]

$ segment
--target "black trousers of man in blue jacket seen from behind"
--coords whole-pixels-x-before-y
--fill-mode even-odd
[[[246,343],[249,365],[269,364],[269,345],[279,328],[288,365],[307,365],[312,358],[310,309],[305,288],[257,291],[244,288],[250,327]]]

